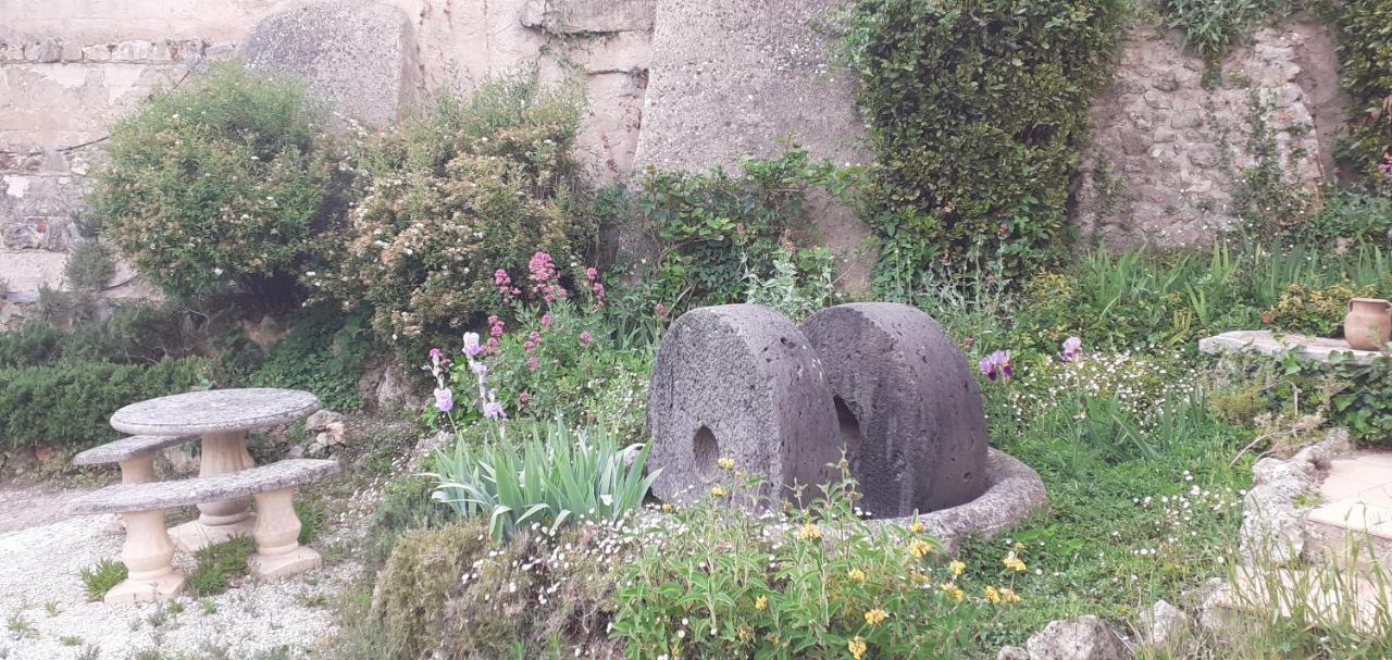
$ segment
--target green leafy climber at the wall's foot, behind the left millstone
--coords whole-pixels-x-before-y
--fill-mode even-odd
[[[644,174],[632,205],[663,246],[651,273],[657,301],[674,309],[742,302],[748,280],[775,276],[780,253],[789,259],[795,238],[812,230],[810,195],[845,196],[856,177],[855,170],[813,162],[800,146],[771,160],[742,159],[739,168],[739,175],[721,167]],[[820,274],[795,269],[785,277],[814,285],[810,280]]]

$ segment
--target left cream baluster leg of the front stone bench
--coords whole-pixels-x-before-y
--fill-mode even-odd
[[[111,603],[146,603],[167,600],[184,590],[184,575],[174,569],[174,543],[164,531],[164,511],[128,511],[125,546],[121,561],[129,575],[116,585],[106,597]]]

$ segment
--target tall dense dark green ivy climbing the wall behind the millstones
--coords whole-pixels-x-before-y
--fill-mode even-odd
[[[963,262],[1008,276],[1062,255],[1121,0],[859,0],[848,49],[877,166],[881,287]]]

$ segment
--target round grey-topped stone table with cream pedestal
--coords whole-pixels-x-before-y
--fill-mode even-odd
[[[303,419],[323,408],[313,394],[298,390],[209,390],[152,398],[127,405],[111,415],[111,427],[148,436],[196,434],[203,439],[199,476],[252,468],[246,432]],[[255,519],[249,497],[199,504],[199,518],[170,531],[185,551],[198,551],[232,536],[252,533]]]

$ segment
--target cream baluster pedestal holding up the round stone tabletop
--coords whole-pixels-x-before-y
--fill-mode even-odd
[[[212,433],[203,436],[203,457],[199,461],[198,476],[226,475],[255,466],[246,451],[246,432]],[[180,550],[196,553],[214,543],[223,543],[232,536],[252,533],[249,497],[199,504],[196,521],[185,522],[170,531]]]

